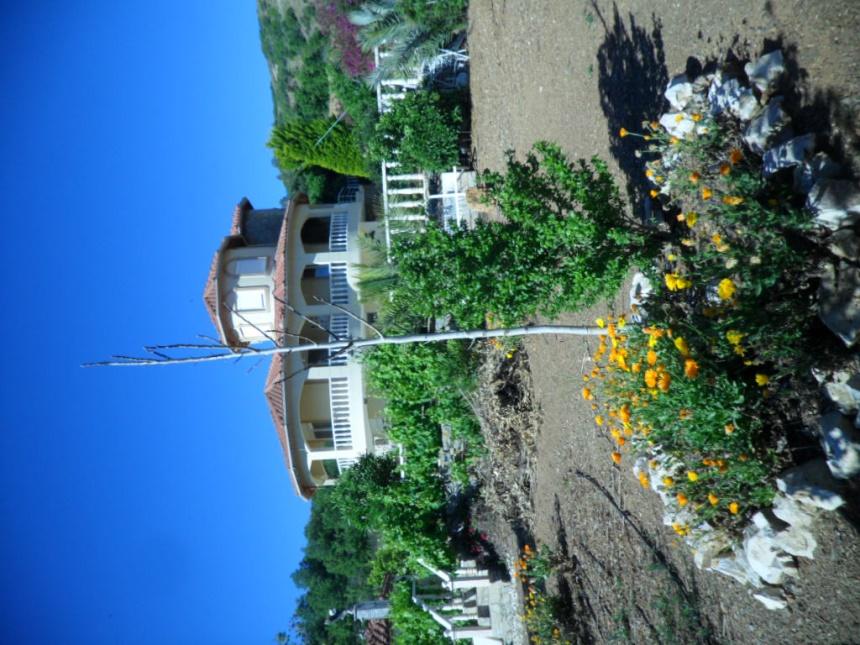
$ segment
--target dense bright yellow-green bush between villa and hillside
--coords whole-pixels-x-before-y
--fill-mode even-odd
[[[364,157],[352,129],[343,123],[333,124],[330,119],[294,119],[276,126],[269,147],[274,149],[280,167],[317,166],[341,175],[366,177]]]

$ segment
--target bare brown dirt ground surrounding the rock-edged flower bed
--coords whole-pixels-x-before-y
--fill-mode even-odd
[[[573,157],[609,160],[638,211],[642,165],[618,129],[658,116],[675,73],[729,49],[743,59],[778,44],[796,81],[795,116],[824,132],[831,153],[853,158],[857,170],[860,2],[472,0],[469,18],[479,169],[502,169],[506,150],[552,140]],[[590,323],[623,304],[619,298],[563,321]],[[611,446],[577,396],[588,341],[544,337],[525,348],[540,415],[528,529],[568,558],[571,573],[557,590],[568,599],[577,640],[860,642],[860,539],[852,522],[836,513],[819,521],[815,559],[800,562],[790,610],[767,611],[734,581],[696,570],[631,464],[610,461]],[[494,527],[501,550],[518,544],[508,526]]]

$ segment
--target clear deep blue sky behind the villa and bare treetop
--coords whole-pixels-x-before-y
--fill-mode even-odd
[[[270,643],[309,507],[267,365],[79,367],[212,333],[234,204],[284,194],[255,3],[3,13],[0,641]]]

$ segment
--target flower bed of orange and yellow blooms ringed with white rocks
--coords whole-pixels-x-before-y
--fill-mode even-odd
[[[672,112],[639,132],[620,131],[644,143],[651,197],[666,216],[654,232],[663,246],[634,281],[640,324],[597,321],[607,335],[582,396],[615,442],[612,460],[633,454],[636,477],[661,497],[664,523],[696,564],[781,609],[781,585],[798,575],[795,556],[813,555],[814,513],[842,503],[831,473],[848,479],[860,470],[856,431],[840,416],[857,406],[852,412],[831,394],[825,405],[838,411],[819,422],[827,465],[786,471],[794,463],[786,427],[806,427],[803,414],[820,406],[811,368],[823,357],[830,368],[840,364],[837,336],[849,347],[856,341],[846,312],[860,306],[857,293],[831,297],[841,309],[827,312],[819,284],[821,267],[838,266],[839,257],[848,259],[843,272],[857,271],[828,238],[841,228],[839,244],[857,244],[849,228],[856,216],[844,206],[851,198],[840,211],[828,195],[860,191],[832,180],[826,156],[811,156],[813,135],[792,138],[773,96],[781,54],[745,69],[676,77],[666,91]],[[827,422],[836,431],[824,430],[831,417],[839,417]]]

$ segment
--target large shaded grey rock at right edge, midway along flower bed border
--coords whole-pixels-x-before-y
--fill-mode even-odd
[[[818,286],[818,316],[846,347],[860,338],[860,269],[827,265]]]

